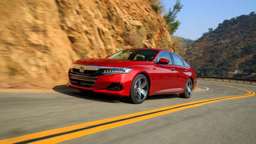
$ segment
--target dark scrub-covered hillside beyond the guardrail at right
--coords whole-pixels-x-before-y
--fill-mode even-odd
[[[256,14],[224,20],[183,51],[198,75],[256,78]]]

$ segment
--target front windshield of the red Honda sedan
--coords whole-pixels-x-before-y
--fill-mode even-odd
[[[136,61],[152,61],[157,53],[157,50],[128,49],[121,50],[113,54],[109,58]]]

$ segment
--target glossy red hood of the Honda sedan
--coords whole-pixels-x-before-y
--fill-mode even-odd
[[[134,60],[121,60],[121,59],[80,59],[74,61],[73,64],[80,65],[94,65],[102,67],[129,67],[133,65],[145,65],[148,64],[148,61],[134,61]]]

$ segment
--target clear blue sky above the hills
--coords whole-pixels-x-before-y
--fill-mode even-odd
[[[176,0],[160,0],[165,11],[173,8]],[[256,12],[256,0],[181,0],[183,8],[177,14],[181,21],[174,35],[196,40],[208,28],[216,29],[225,19]]]

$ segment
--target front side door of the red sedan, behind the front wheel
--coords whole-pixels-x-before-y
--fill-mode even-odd
[[[157,63],[161,58],[165,58],[170,62],[168,64]],[[154,91],[171,91],[175,87],[176,71],[173,70],[172,59],[169,52],[161,52],[154,63],[153,83],[156,88]]]

